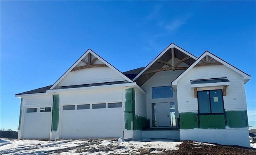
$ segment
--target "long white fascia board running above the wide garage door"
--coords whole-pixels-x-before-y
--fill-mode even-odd
[[[113,84],[113,85],[98,85],[98,86],[91,86],[91,87],[50,89],[50,90],[46,90],[46,93],[62,93],[62,92],[84,91],[84,90],[92,90],[92,89],[107,89],[107,88],[114,88],[114,87],[130,87],[130,86],[136,86],[136,83],[130,82],[130,83]]]

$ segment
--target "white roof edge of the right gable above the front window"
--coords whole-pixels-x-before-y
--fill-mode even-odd
[[[198,60],[196,60],[187,70],[185,70],[182,74],[180,74],[180,76],[178,76],[176,79],[174,79],[174,81],[172,81],[172,85],[177,85],[177,82],[186,74],[188,73],[194,66],[196,66],[197,64],[199,64],[200,61],[202,61],[202,59],[206,56],[210,56],[211,58],[213,58],[214,60],[216,60],[217,62],[227,66],[228,68],[230,68],[231,70],[237,72],[238,74],[244,76],[244,83],[248,82],[250,80],[250,75],[246,74],[245,72],[239,70],[238,68],[232,66],[231,64],[229,64],[228,62],[225,62],[224,60],[220,59],[219,57],[215,56],[214,54],[210,53],[209,51],[205,51],[199,58]]]

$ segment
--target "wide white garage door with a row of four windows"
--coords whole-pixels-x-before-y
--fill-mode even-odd
[[[114,138],[123,135],[122,103],[62,106],[62,138]]]

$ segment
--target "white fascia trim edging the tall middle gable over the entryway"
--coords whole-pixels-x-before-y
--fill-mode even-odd
[[[190,56],[191,58],[193,58],[194,60],[197,60],[197,58],[195,56],[193,56],[192,54],[190,54],[189,52],[186,52],[185,50],[183,50],[182,48],[178,47],[175,44],[170,44],[166,49],[164,49],[163,52],[161,52],[152,62],[150,62],[135,78],[132,79],[132,81],[136,80],[139,76],[141,76],[141,74],[143,74],[152,64],[154,64],[154,62],[156,62],[156,60],[158,60],[165,52],[167,52],[170,48],[177,48],[178,50],[180,50],[181,52],[183,52],[184,54]]]

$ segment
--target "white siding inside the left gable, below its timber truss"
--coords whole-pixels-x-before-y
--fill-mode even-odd
[[[70,72],[58,86],[81,85],[124,81],[125,79],[109,67],[86,68]]]

